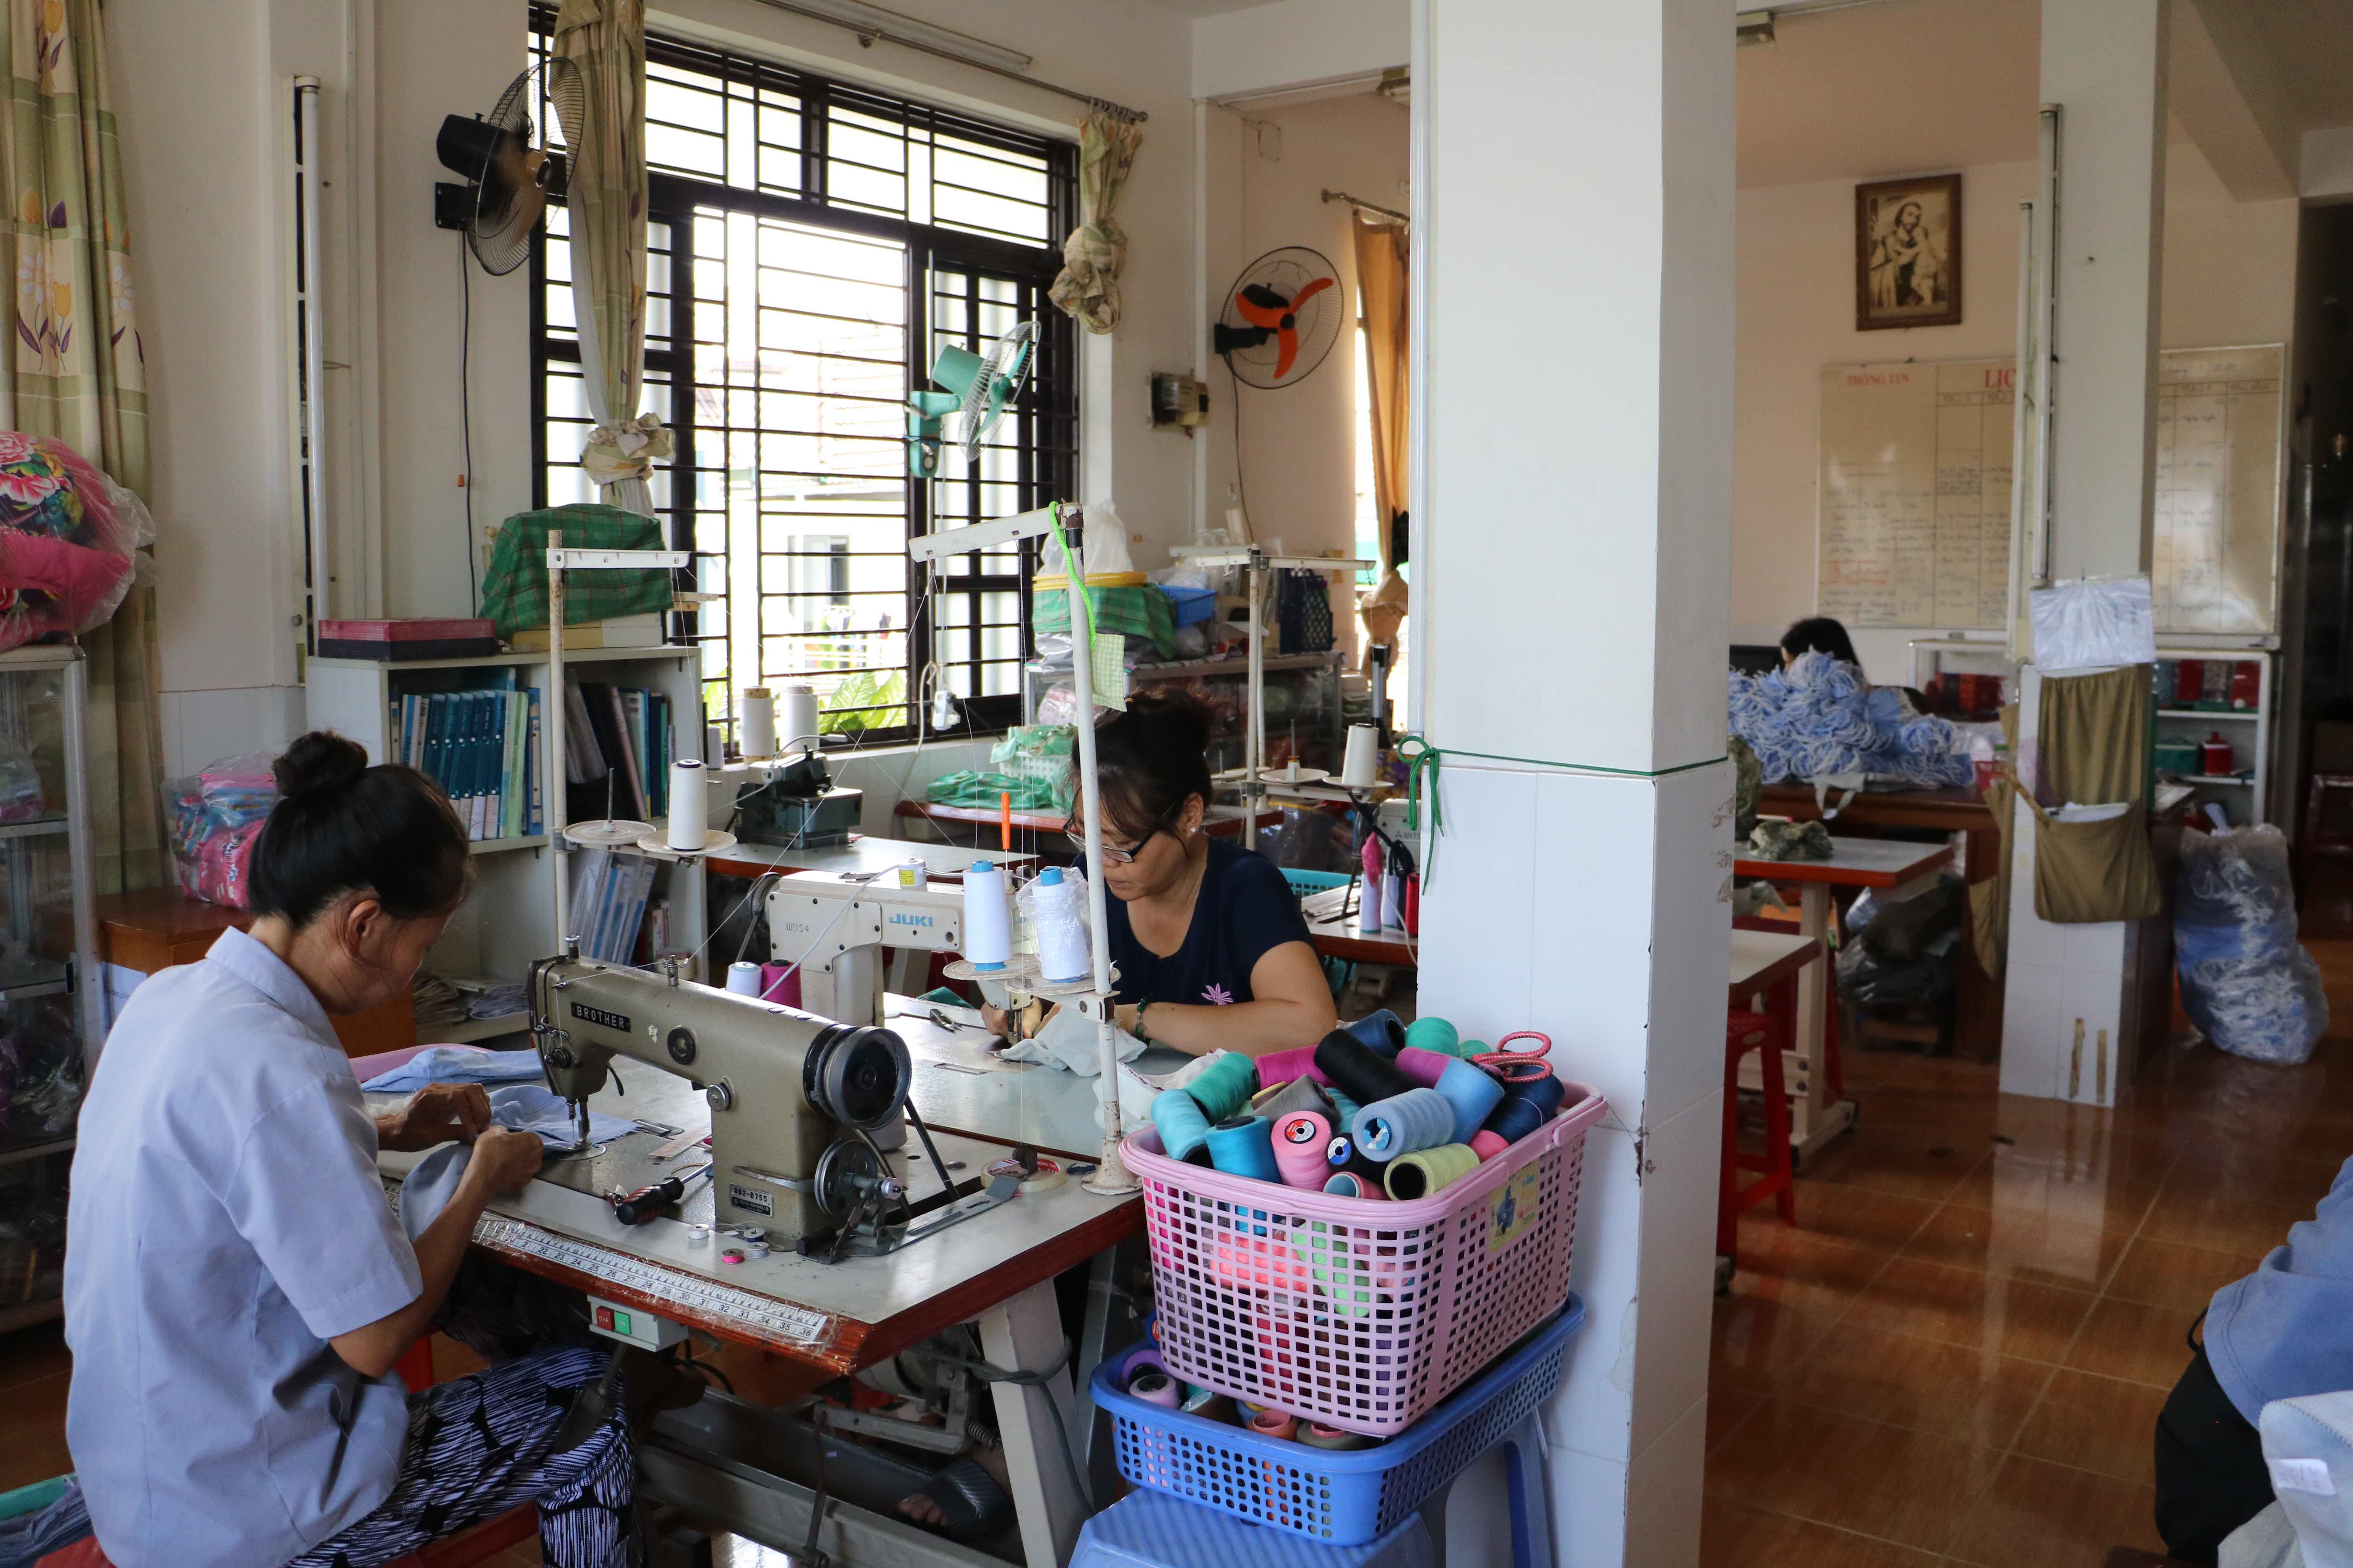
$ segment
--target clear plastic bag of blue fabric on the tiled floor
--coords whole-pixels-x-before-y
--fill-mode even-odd
[[[2181,835],[2174,966],[2181,1009],[2219,1048],[2259,1063],[2311,1058],[2329,1001],[2297,943],[2287,835],[2271,825]]]

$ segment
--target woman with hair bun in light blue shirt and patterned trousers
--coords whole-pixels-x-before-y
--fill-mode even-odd
[[[466,896],[466,832],[421,773],[339,736],[299,738],[275,776],[252,933],[139,987],[82,1107],[66,1436],[99,1547],[118,1568],[372,1568],[536,1502],[548,1563],[602,1566],[626,1544],[631,1436],[602,1403],[560,1427],[605,1352],[421,1394],[391,1375],[485,1204],[541,1157],[480,1086],[369,1119],[327,1023],[407,994]],[[466,1175],[412,1246],[376,1150],[452,1138]]]

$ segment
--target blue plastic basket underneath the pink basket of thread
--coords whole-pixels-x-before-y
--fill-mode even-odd
[[[1094,1403],[1111,1413],[1120,1474],[1134,1486],[1329,1547],[1360,1547],[1402,1523],[1551,1396],[1584,1319],[1584,1302],[1572,1295],[1494,1366],[1379,1448],[1308,1448],[1146,1403],[1118,1385],[1132,1352],[1104,1356],[1094,1368]]]

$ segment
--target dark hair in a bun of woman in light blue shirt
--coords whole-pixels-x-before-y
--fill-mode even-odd
[[[369,891],[395,919],[454,910],[473,879],[466,830],[449,797],[405,766],[325,729],[271,764],[278,804],[254,842],[254,914],[308,926],[341,893]]]

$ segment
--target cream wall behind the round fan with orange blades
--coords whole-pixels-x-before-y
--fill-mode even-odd
[[[1257,127],[1273,127],[1261,134]],[[1235,388],[1226,367],[1209,362],[1209,425],[1202,442],[1205,527],[1224,527],[1233,505],[1233,430],[1242,421],[1242,461],[1249,522],[1257,538],[1280,538],[1294,555],[1355,550],[1355,237],[1346,202],[1322,190],[1348,190],[1381,207],[1407,205],[1407,110],[1369,92],[1318,99],[1264,113],[1209,108],[1205,118],[1202,181],[1205,317],[1224,308],[1226,289],[1249,261],[1282,244],[1322,252],[1339,268],[1346,320],[1332,355],[1306,381],[1280,390]],[[1160,562],[1136,562],[1160,564]]]

